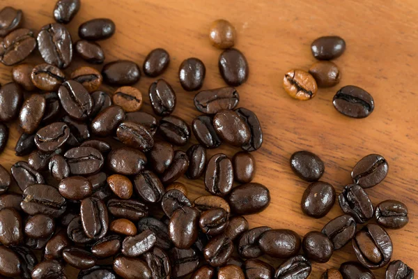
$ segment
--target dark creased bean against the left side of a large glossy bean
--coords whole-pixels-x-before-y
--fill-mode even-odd
[[[221,145],[222,140],[213,127],[213,119],[208,115],[197,116],[192,122],[194,136],[207,149],[214,149]]]

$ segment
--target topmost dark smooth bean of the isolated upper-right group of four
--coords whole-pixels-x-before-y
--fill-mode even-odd
[[[318,60],[335,59],[346,50],[346,41],[339,36],[323,36],[312,42],[312,55]]]

